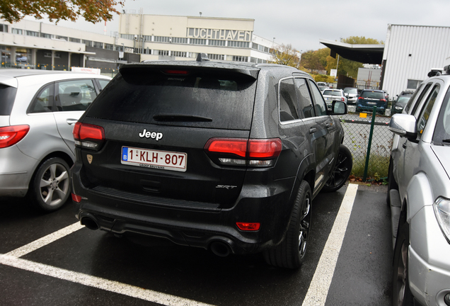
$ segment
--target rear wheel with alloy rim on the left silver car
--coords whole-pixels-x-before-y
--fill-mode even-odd
[[[70,196],[69,165],[52,157],[35,172],[30,186],[30,200],[35,208],[51,212],[60,208]]]

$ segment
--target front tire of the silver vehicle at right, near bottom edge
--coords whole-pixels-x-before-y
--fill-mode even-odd
[[[402,220],[402,218],[400,218]],[[404,222],[398,227],[396,247],[393,258],[393,306],[412,306],[414,297],[409,285],[408,246],[410,245],[410,227]]]

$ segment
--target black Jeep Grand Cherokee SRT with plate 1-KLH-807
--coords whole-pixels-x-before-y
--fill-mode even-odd
[[[151,97],[151,98],[149,98]],[[214,254],[264,252],[299,268],[313,198],[352,169],[338,118],[292,67],[125,64],[76,123],[76,217]]]

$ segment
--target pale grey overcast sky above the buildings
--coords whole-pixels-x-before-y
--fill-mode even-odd
[[[255,35],[292,44],[296,50],[318,50],[320,39],[364,36],[386,40],[388,24],[450,26],[450,0],[125,0],[122,9],[144,14],[254,19]],[[118,30],[119,17],[106,23]],[[59,25],[104,33],[104,23],[60,21]]]

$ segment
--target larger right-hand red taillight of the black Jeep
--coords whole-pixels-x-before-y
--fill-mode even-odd
[[[272,166],[282,150],[282,141],[279,138],[212,138],[204,150],[224,165]]]

